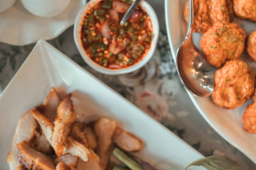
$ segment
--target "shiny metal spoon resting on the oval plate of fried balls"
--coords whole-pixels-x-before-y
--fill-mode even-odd
[[[214,67],[193,44],[192,25],[194,11],[193,0],[189,0],[189,22],[185,41],[177,50],[177,70],[180,80],[191,94],[207,97],[214,89]]]

